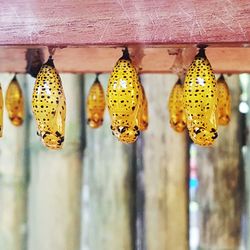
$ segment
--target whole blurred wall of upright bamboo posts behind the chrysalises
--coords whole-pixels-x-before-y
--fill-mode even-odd
[[[0,74],[4,93],[13,74]],[[108,74],[100,75],[104,89]],[[0,139],[1,250],[250,249],[250,76],[225,75],[232,117],[213,147],[170,128],[173,74],[141,76],[149,128],[133,145],[86,124],[94,74],[61,74],[64,148],[46,149],[31,113],[35,79],[18,74],[24,124],[4,114]]]

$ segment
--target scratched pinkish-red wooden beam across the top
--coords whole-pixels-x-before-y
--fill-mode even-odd
[[[0,45],[249,44],[248,0],[1,1]]]

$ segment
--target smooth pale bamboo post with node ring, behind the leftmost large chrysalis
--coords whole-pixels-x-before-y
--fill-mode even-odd
[[[61,78],[67,102],[63,150],[45,148],[32,119],[29,250],[80,248],[81,76],[62,74]],[[34,78],[29,81],[31,92],[34,82]]]

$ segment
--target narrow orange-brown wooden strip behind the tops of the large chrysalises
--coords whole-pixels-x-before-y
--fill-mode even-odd
[[[122,48],[65,48],[55,53],[55,65],[59,72],[111,72]],[[169,73],[175,60],[172,48],[131,46],[132,58],[138,61],[138,55],[144,54],[138,66],[142,73]],[[48,51],[43,48],[45,60]],[[196,54],[195,47],[183,51],[185,66],[188,66]],[[250,73],[250,48],[207,48],[207,57],[217,73]],[[140,59],[140,58],[139,58]],[[26,49],[0,47],[0,72],[26,72]]]

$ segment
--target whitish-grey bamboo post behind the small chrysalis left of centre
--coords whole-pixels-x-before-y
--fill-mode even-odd
[[[88,94],[94,75],[85,75]],[[108,75],[100,82],[106,91]],[[104,124],[86,128],[84,153],[83,249],[132,249],[132,145],[111,134],[106,110]]]

